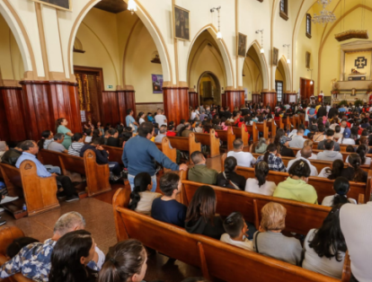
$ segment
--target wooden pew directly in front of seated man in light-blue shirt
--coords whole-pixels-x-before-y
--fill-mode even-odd
[[[89,197],[111,190],[109,164],[98,164],[92,150],[86,150],[84,157],[45,149],[40,150],[39,155],[41,163],[59,166],[62,174],[66,175],[66,171],[69,171],[85,175]]]

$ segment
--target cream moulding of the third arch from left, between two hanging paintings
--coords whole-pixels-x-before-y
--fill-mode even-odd
[[[188,54],[187,54],[187,61],[186,61],[187,64],[186,64],[186,67],[189,66],[189,60],[190,60],[191,50],[194,47],[194,44],[195,44],[196,40],[199,38],[199,35],[203,31],[208,31],[210,33],[210,35],[215,39],[215,41],[217,43],[219,52],[220,52],[221,57],[222,57],[222,59],[224,61],[225,73],[226,73],[226,87],[229,87],[229,86],[230,87],[234,87],[235,86],[234,85],[235,80],[234,80],[232,59],[231,59],[230,54],[229,54],[229,52],[227,50],[225,41],[223,39],[222,40],[217,40],[217,29],[216,29],[216,27],[213,24],[208,24],[208,25],[204,26],[203,28],[201,28],[195,34],[195,37],[191,41],[190,48],[189,48],[189,51],[188,51]],[[189,69],[187,69],[186,71],[187,71],[187,74],[188,74],[187,77],[188,77],[188,80],[189,80]]]

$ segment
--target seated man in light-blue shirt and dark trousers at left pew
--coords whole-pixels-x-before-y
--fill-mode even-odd
[[[73,183],[67,176],[58,175],[56,173],[51,174],[47,171],[45,166],[42,165],[42,163],[40,163],[40,161],[36,158],[36,154],[39,153],[39,146],[35,143],[35,141],[26,140],[22,143],[21,148],[23,153],[18,158],[17,163],[15,163],[15,166],[17,168],[20,168],[23,161],[31,161],[36,165],[38,176],[50,177],[53,175],[56,177],[58,187],[61,186],[63,188],[63,192],[58,193],[58,198],[66,197],[66,202],[72,202],[79,199]]]

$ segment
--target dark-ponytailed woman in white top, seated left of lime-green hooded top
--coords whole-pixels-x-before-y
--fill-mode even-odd
[[[245,183],[245,191],[272,196],[277,185],[275,182],[266,181],[269,174],[269,165],[266,162],[260,162],[256,164],[254,168],[254,175],[256,178],[249,178]]]

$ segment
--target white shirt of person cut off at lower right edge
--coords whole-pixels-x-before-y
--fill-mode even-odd
[[[366,205],[343,205],[340,209],[341,231],[351,260],[350,281],[367,282],[372,278],[371,214],[372,202]]]

